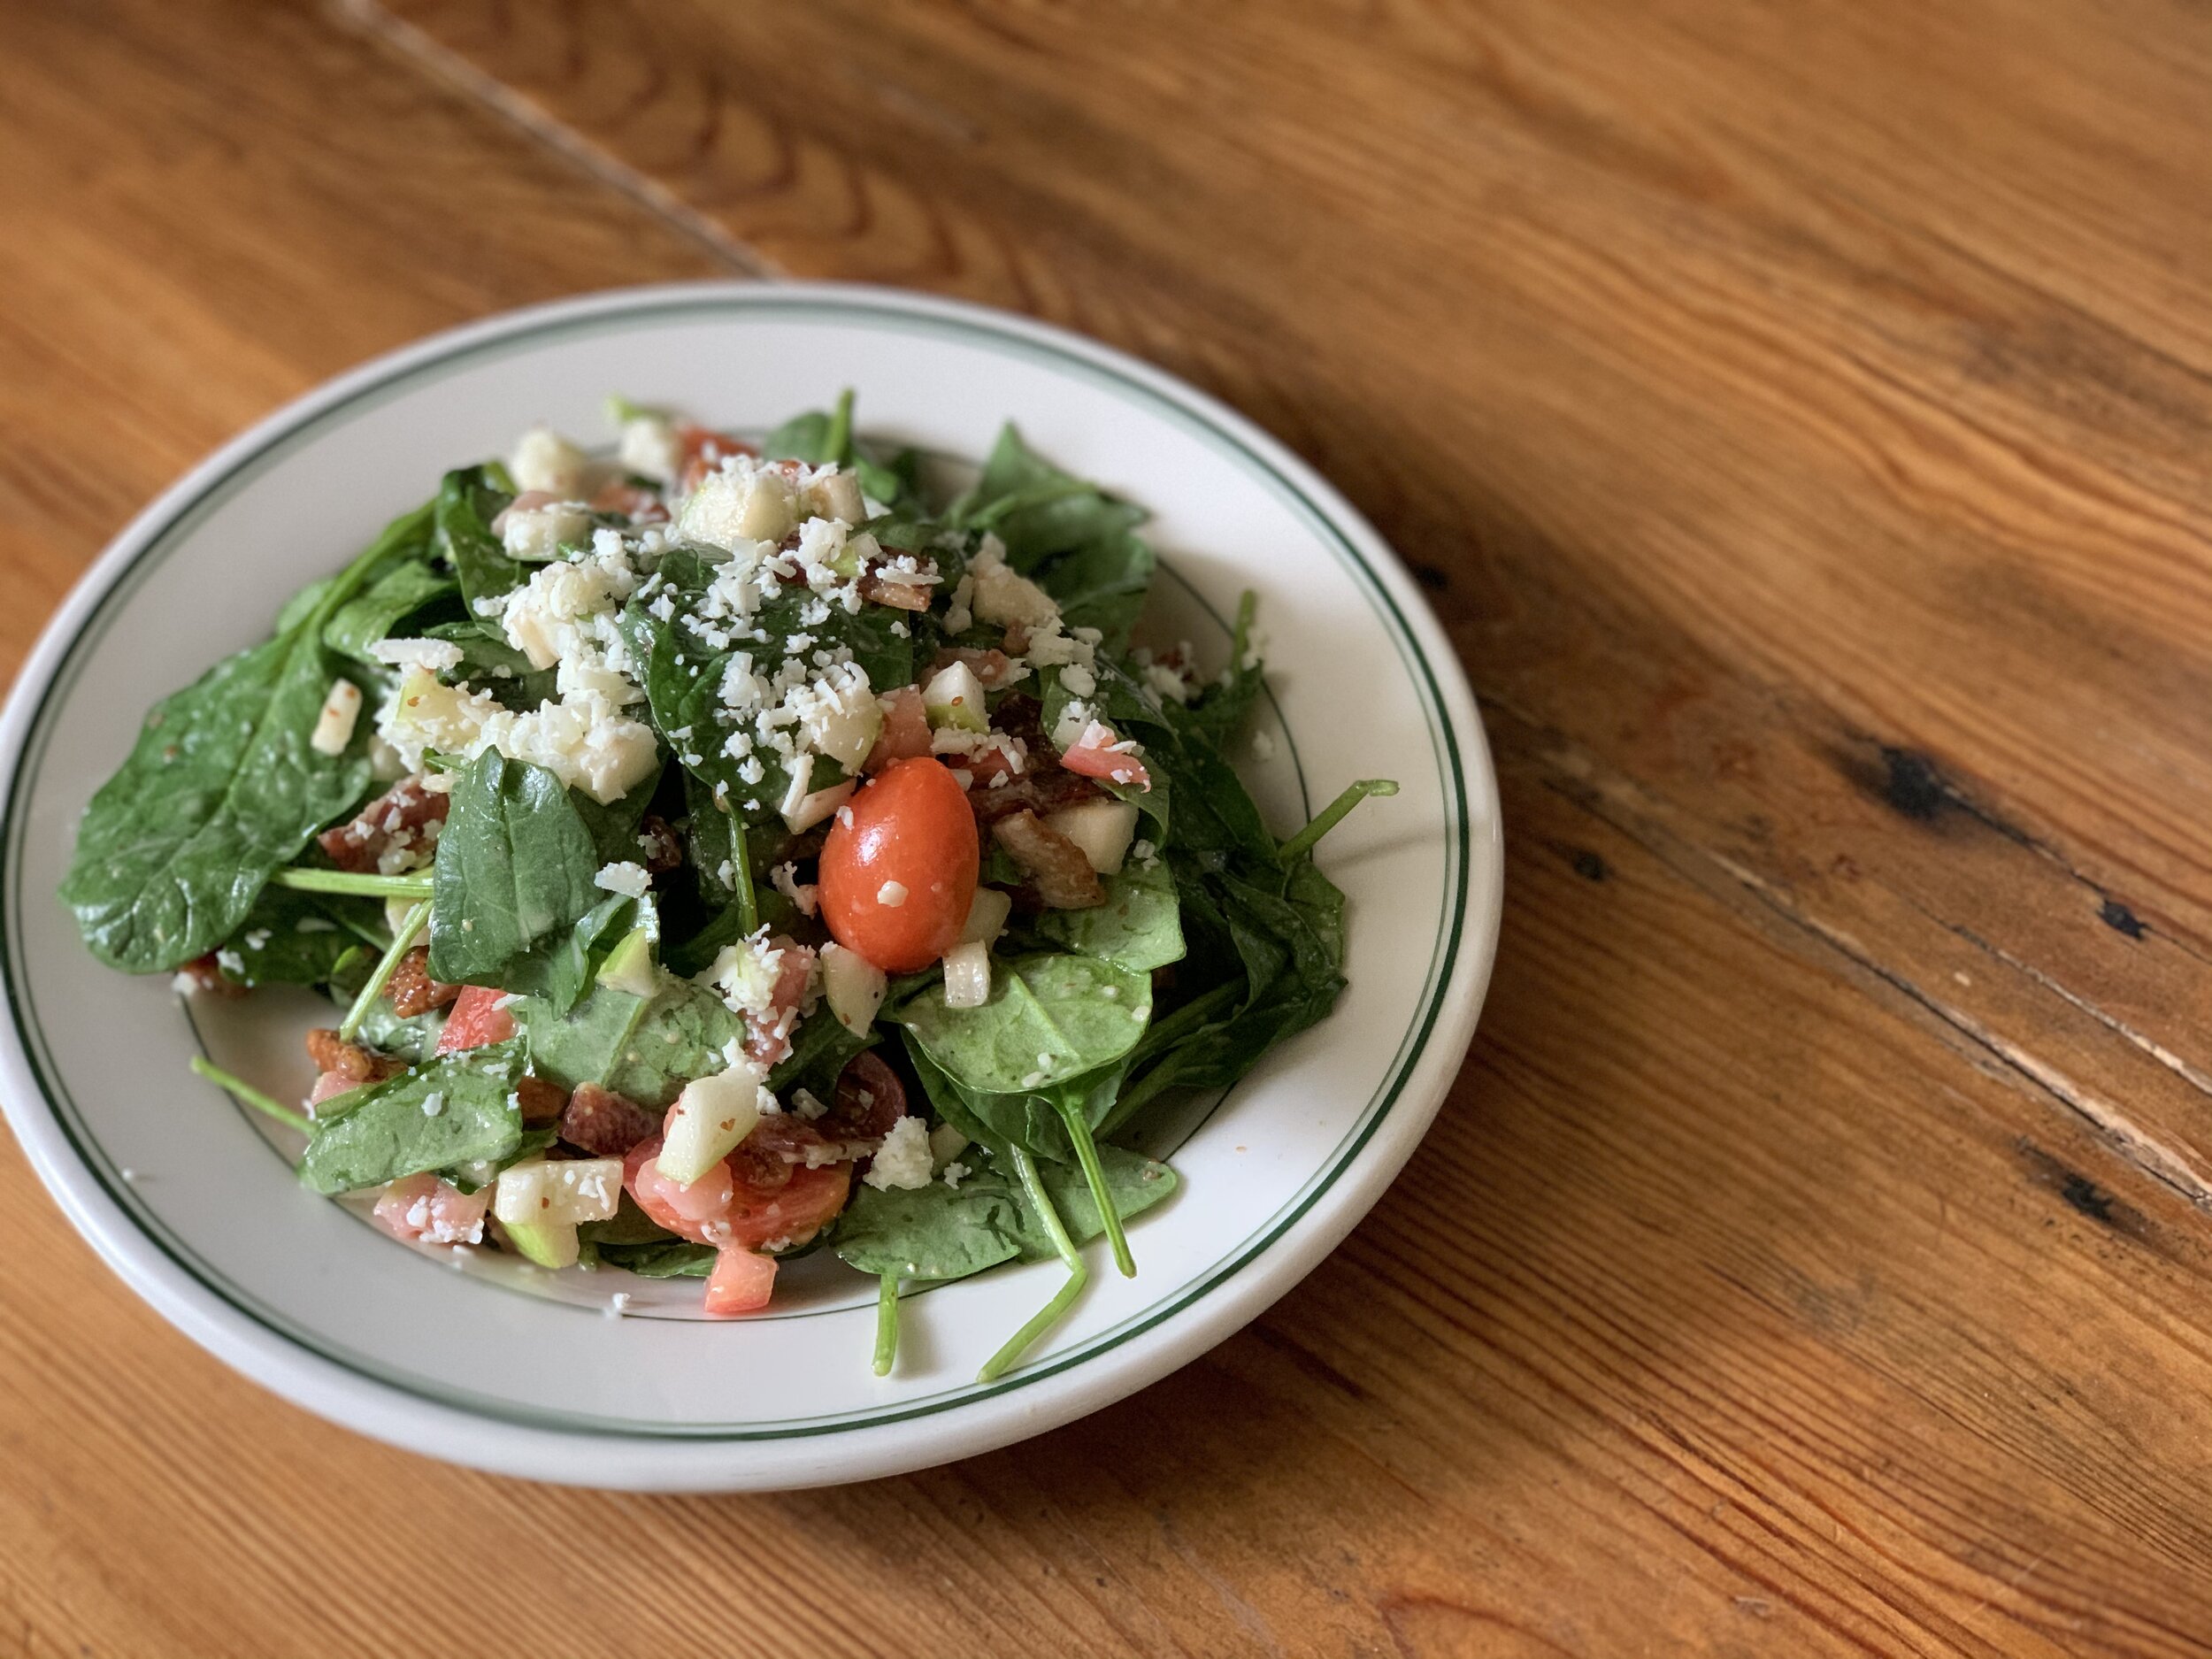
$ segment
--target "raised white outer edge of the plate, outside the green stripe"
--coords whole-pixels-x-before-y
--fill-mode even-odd
[[[1133,1316],[1130,1327],[1117,1327],[1082,1349],[1024,1367],[991,1389],[956,1391],[942,1402],[889,1405],[858,1422],[734,1433],[686,1433],[681,1427],[626,1433],[495,1416],[358,1371],[239,1307],[175,1261],[146,1223],[104,1188],[75,1146],[20,1029],[13,953],[0,951],[0,982],[7,993],[7,1020],[0,1022],[0,1077],[9,1084],[7,1115],[40,1181],[71,1223],[126,1285],[195,1343],[294,1405],[356,1431],[429,1455],[542,1480],[580,1480],[571,1464],[580,1449],[595,1447],[599,1455],[593,1458],[597,1469],[588,1475],[591,1484],[655,1491],[785,1489],[856,1480],[1026,1438],[1150,1385],[1225,1340],[1294,1287],[1398,1175],[1433,1121],[1473,1035],[1495,960],[1502,843],[1495,812],[1486,825],[1489,834],[1480,834],[1484,825],[1473,818],[1471,801],[1495,803],[1495,768],[1458,657],[1389,544],[1325,478],[1279,440],[1164,369],[1013,312],[865,283],[699,281],[577,294],[411,341],[310,387],[263,416],[161,491],[108,542],[55,608],[24,659],[0,714],[0,849],[9,849],[9,843],[20,845],[15,805],[29,739],[86,626],[142,557],[241,467],[363,394],[378,387],[405,389],[422,369],[478,354],[493,343],[515,343],[526,349],[531,336],[564,323],[701,305],[765,310],[792,303],[845,312],[849,319],[894,319],[894,325],[898,319],[909,323],[933,319],[1042,347],[1048,356],[1062,358],[1062,372],[1104,369],[1168,409],[1179,409],[1214,440],[1243,449],[1248,460],[1276,473],[1301,495],[1354,555],[1429,679],[1431,741],[1442,739],[1453,752],[1453,772],[1447,772],[1444,787],[1447,810],[1458,818],[1462,856],[1458,887],[1455,891],[1447,887],[1447,905],[1458,911],[1458,940],[1438,953],[1440,969],[1429,991],[1429,1006],[1418,1011],[1409,1024],[1413,1033],[1409,1046],[1385,1071],[1378,1099],[1387,1099],[1380,1108],[1369,1108],[1369,1121],[1338,1155],[1334,1172],[1323,1170],[1321,1183],[1292,1201],[1287,1214],[1270,1221],[1256,1234],[1256,1243],[1243,1241],[1190,1287]],[[617,1462],[622,1467],[615,1467]]]

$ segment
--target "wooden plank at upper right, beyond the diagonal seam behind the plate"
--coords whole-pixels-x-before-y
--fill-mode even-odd
[[[2212,1192],[2199,13],[365,13],[790,270],[1256,414],[1486,701]]]

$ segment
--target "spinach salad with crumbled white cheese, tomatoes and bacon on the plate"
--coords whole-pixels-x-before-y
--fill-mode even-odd
[[[1175,1172],[1144,1115],[1343,989],[1343,894],[1225,752],[1261,692],[1130,644],[1141,511],[1006,427],[931,498],[852,394],[759,445],[615,403],[460,467],[164,699],[84,812],[84,942],[188,993],[323,991],[301,1181],[398,1239],[902,1287],[1057,1259]],[[615,1310],[624,1303],[615,1294]]]

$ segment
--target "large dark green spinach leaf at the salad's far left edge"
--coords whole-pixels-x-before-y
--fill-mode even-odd
[[[363,796],[367,721],[343,754],[307,741],[343,666],[323,626],[374,571],[420,546],[422,518],[394,520],[290,628],[146,717],[84,810],[62,883],[102,962],[148,973],[201,956],[246,920],[276,865]]]

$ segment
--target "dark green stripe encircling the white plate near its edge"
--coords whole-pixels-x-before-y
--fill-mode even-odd
[[[38,1024],[35,995],[27,975],[22,973],[24,947],[22,947],[22,825],[18,821],[18,807],[24,801],[24,783],[35,776],[46,752],[53,728],[53,710],[66,699],[69,690],[82,670],[84,646],[100,639],[106,626],[113,622],[119,604],[131,597],[131,593],[146,580],[146,575],[159,566],[159,562],[190,533],[190,529],[212,513],[223,500],[228,500],[237,489],[246,487],[274,462],[279,462],[290,449],[299,447],[307,438],[316,438],[330,431],[334,420],[358,416],[403,392],[418,389],[425,380],[442,378],[445,374],[515,352],[535,349],[549,338],[593,334],[608,330],[635,330],[639,325],[681,325],[697,316],[728,316],[732,312],[745,316],[803,316],[812,321],[832,321],[860,327],[878,327],[887,332],[929,332],[942,336],[958,336],[969,343],[980,343],[989,349],[1026,356],[1033,361],[1051,363],[1064,372],[1073,372],[1086,380],[1102,383],[1117,389],[1121,396],[1146,403],[1157,414],[1164,414],[1175,425],[1186,431],[1208,440],[1217,449],[1225,449],[1239,458],[1252,473],[1256,473],[1265,484],[1283,500],[1287,500],[1301,518],[1316,526],[1323,540],[1336,551],[1338,562],[1356,575],[1360,586],[1367,591],[1369,604],[1378,617],[1389,626],[1391,639],[1398,648],[1400,659],[1416,670],[1416,684],[1420,686],[1425,701],[1431,712],[1429,741],[1438,759],[1438,772],[1444,781],[1444,794],[1453,814],[1453,838],[1447,843],[1447,885],[1451,889],[1451,905],[1438,918],[1438,947],[1429,960],[1429,978],[1422,991],[1422,1009],[1418,1018],[1407,1026],[1407,1035],[1400,1040],[1398,1055],[1391,1062],[1387,1082],[1369,1099],[1360,1115],[1360,1121],[1345,1135],[1338,1144],[1334,1159],[1327,1168],[1314,1177],[1305,1190],[1290,1199],[1274,1217],[1267,1219],[1256,1232],[1252,1232],[1241,1245],[1237,1245],[1228,1259],[1223,1259],[1212,1272],[1197,1281],[1186,1281],[1177,1285],[1166,1298],[1146,1307],[1139,1314],[1130,1314],[1121,1323],[1106,1332],[1099,1332],[1079,1347],[1042,1358],[998,1383],[989,1385],[962,1385],[947,1389],[942,1394],[922,1396],[916,1400],[902,1400],[896,1407],[849,1411],[841,1416],[812,1418],[812,1420],[785,1420],[774,1425],[664,1425],[664,1422],[633,1422],[622,1418],[599,1418],[571,1411],[544,1411],[531,1407],[518,1407],[511,1400],[500,1400],[493,1396],[471,1394],[467,1389],[453,1389],[442,1383],[431,1383],[427,1378],[409,1376],[405,1371],[394,1371],[378,1360],[363,1354],[354,1354],[327,1338],[301,1329],[285,1314],[261,1305],[243,1287],[232,1285],[228,1279],[217,1274],[208,1263],[204,1263],[181,1239],[175,1239],[168,1228],[155,1217],[137,1197],[137,1192],[122,1179],[113,1159],[91,1135],[82,1113],[69,1095],[66,1084],[62,1084],[53,1057],[46,1051],[44,1031]],[[188,1279],[192,1279],[201,1290],[212,1294],[217,1301],[228,1305],[239,1316],[252,1321],[261,1329],[281,1336],[283,1340],[314,1354],[316,1358],[336,1365],[345,1371],[361,1376],[363,1380],[376,1383],[380,1387],[409,1394],[414,1398],[440,1405],[447,1409],[460,1409],[476,1416],[484,1416],[498,1422],[526,1429],[551,1429],[562,1433],[582,1436],[613,1436],[613,1438],[639,1438],[639,1440],[688,1440],[688,1442],[748,1442],[748,1440],[792,1440],[810,1438],[823,1433],[845,1433],[854,1429],[883,1427],[891,1422],[905,1422],[909,1418],[936,1416],[940,1411],[951,1411],[978,1400],[989,1400],[993,1396],[1011,1394],[1044,1378],[1068,1371],[1086,1360],[1119,1347],[1155,1325],[1172,1318],[1186,1307],[1194,1305],[1210,1292],[1219,1290],[1223,1283],[1234,1279],[1245,1265],[1250,1265],[1261,1252],[1265,1252],[1276,1239],[1281,1239],[1312,1206],[1343,1177],[1343,1172],[1358,1157],[1360,1148],[1374,1139],[1383,1119],[1396,1106],[1405,1091],[1405,1082],[1413,1071],[1422,1048],[1427,1046],[1429,1033],[1436,1029],[1438,1015],[1442,1011],[1442,998],[1451,980],[1451,964],[1458,958],[1460,938],[1467,927],[1467,878],[1469,878],[1469,847],[1471,847],[1471,818],[1467,805],[1467,774],[1460,757],[1458,734],[1444,712],[1442,690],[1436,681],[1436,670],[1422,653],[1420,641],[1413,637],[1411,626],[1405,619],[1398,602],[1391,597],[1389,588],[1369,566],[1367,557],[1358,546],[1338,529],[1336,520],[1329,518],[1301,487],[1296,480],[1287,478],[1274,467],[1265,456],[1254,451],[1241,436],[1228,431],[1201,411],[1183,405],[1181,400],[1164,394],[1159,387],[1148,385],[1124,372],[1113,363],[1097,363],[1075,352],[1068,352],[1051,338],[1035,338],[1022,332],[1009,332],[984,323],[980,316],[947,316],[938,312],[914,312],[869,294],[852,294],[845,299],[825,296],[785,296],[774,290],[752,292],[728,292],[717,296],[679,294],[670,299],[641,294],[628,305],[615,303],[604,310],[593,310],[582,316],[546,316],[546,319],[522,319],[513,327],[500,330],[491,336],[462,338],[456,341],[447,352],[427,361],[409,361],[396,365],[385,376],[356,387],[345,398],[303,411],[288,427],[270,434],[265,442],[257,449],[239,456],[223,473],[208,480],[199,495],[181,504],[175,518],[161,526],[161,531],[137,551],[133,562],[108,584],[106,593],[93,606],[91,617],[71,639],[62,664],[55,668],[53,677],[40,692],[38,708],[31,717],[31,730],[27,734],[22,757],[15,763],[15,774],[7,794],[7,810],[0,816],[0,847],[7,854],[7,949],[0,951],[0,978],[7,980],[7,1004],[15,1020],[15,1029],[24,1035],[24,1055],[31,1062],[31,1073],[46,1099],[49,1110],[60,1124],[62,1135],[69,1139],[71,1148],[80,1161],[95,1175],[102,1190],[126,1214],[139,1232],[168,1256]],[[549,1303],[560,1307],[562,1303]],[[575,1310],[582,1316],[597,1318],[593,1310]],[[838,1310],[852,1312],[852,1310]],[[856,1349],[858,1352],[858,1349]]]

